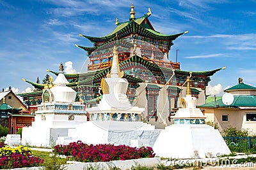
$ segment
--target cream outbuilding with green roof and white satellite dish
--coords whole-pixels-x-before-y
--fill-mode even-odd
[[[208,97],[198,108],[204,111],[206,121],[217,123],[221,131],[232,126],[256,132],[256,88],[243,83],[242,78],[238,81],[224,90],[234,97],[231,104],[223,103],[223,97]]]

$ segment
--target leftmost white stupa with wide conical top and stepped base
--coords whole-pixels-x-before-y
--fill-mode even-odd
[[[42,94],[42,103],[35,113],[32,126],[22,128],[22,145],[51,146],[59,139],[67,139],[68,129],[86,122],[84,104],[75,102],[76,91],[67,87],[67,79],[60,64],[59,74],[52,85],[46,85]],[[63,138],[61,138],[63,137]],[[72,138],[68,138],[72,141]]]

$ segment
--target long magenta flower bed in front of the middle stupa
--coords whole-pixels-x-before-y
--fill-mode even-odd
[[[69,145],[56,145],[52,151],[58,155],[66,155],[68,160],[79,162],[109,162],[111,160],[129,160],[152,158],[155,156],[151,147],[140,148],[126,145],[87,145],[81,141]]]

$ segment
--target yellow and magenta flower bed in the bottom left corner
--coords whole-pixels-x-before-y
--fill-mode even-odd
[[[0,148],[0,169],[11,169],[19,167],[35,167],[44,163],[44,159],[34,157],[29,148],[18,146],[2,146]]]

